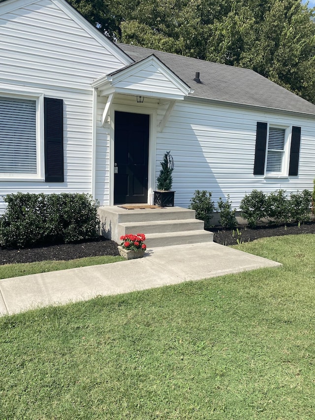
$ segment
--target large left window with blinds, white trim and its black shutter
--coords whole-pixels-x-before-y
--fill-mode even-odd
[[[0,96],[0,178],[63,182],[63,100]]]

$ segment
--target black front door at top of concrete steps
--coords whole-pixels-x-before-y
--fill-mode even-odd
[[[114,204],[148,202],[150,116],[115,111]]]

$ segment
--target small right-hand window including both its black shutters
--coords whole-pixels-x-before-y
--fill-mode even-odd
[[[273,127],[257,123],[254,175],[298,174],[301,127]]]

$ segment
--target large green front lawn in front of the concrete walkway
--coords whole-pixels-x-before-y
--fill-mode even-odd
[[[1,318],[0,419],[314,419],[315,235],[237,248],[284,265]]]

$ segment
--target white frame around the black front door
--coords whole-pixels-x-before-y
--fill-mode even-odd
[[[110,111],[109,141],[109,205],[114,205],[114,152],[115,152],[115,111],[150,115],[149,122],[149,159],[148,159],[148,204],[153,202],[153,191],[156,178],[156,145],[157,145],[157,109],[145,106],[113,104]]]

